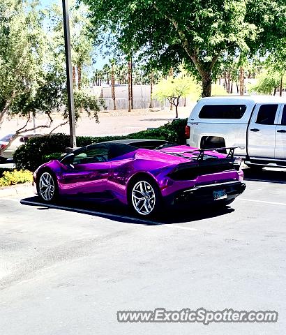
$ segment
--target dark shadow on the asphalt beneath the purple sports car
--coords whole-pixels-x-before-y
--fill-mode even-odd
[[[38,210],[44,209],[59,209],[61,211],[73,211],[76,213],[87,214],[90,216],[97,216],[98,218],[107,218],[113,221],[122,223],[133,223],[142,225],[167,225],[175,223],[186,223],[202,221],[206,218],[213,218],[232,213],[232,207],[195,207],[189,209],[176,209],[175,207],[163,211],[152,218],[142,218],[141,216],[133,215],[128,207],[118,204],[116,202],[109,203],[94,203],[94,202],[80,202],[78,200],[59,200],[54,204],[46,204],[38,197],[24,198],[20,203],[25,206],[38,207]]]

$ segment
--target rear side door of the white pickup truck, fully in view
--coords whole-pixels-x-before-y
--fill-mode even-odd
[[[248,156],[275,158],[278,104],[257,104],[248,127]]]

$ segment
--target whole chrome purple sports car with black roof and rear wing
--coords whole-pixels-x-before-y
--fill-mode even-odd
[[[41,165],[33,184],[45,202],[58,197],[119,200],[142,216],[165,204],[227,205],[246,185],[235,148],[223,149],[228,154],[163,140],[91,144]]]

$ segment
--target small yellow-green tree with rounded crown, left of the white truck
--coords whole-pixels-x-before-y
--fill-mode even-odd
[[[180,75],[179,77],[167,77],[156,85],[154,96],[160,100],[167,100],[171,105],[174,105],[176,110],[176,119],[178,115],[178,106],[180,98],[192,96],[196,99],[200,96],[200,88],[193,79],[187,75]]]

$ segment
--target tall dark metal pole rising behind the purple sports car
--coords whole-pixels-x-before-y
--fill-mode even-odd
[[[70,147],[77,147],[77,139],[75,137],[75,106],[73,101],[73,70],[70,50],[70,21],[68,15],[68,0],[63,1],[63,31],[65,36],[65,52],[66,52],[66,84],[68,90],[68,116],[70,122]]]

